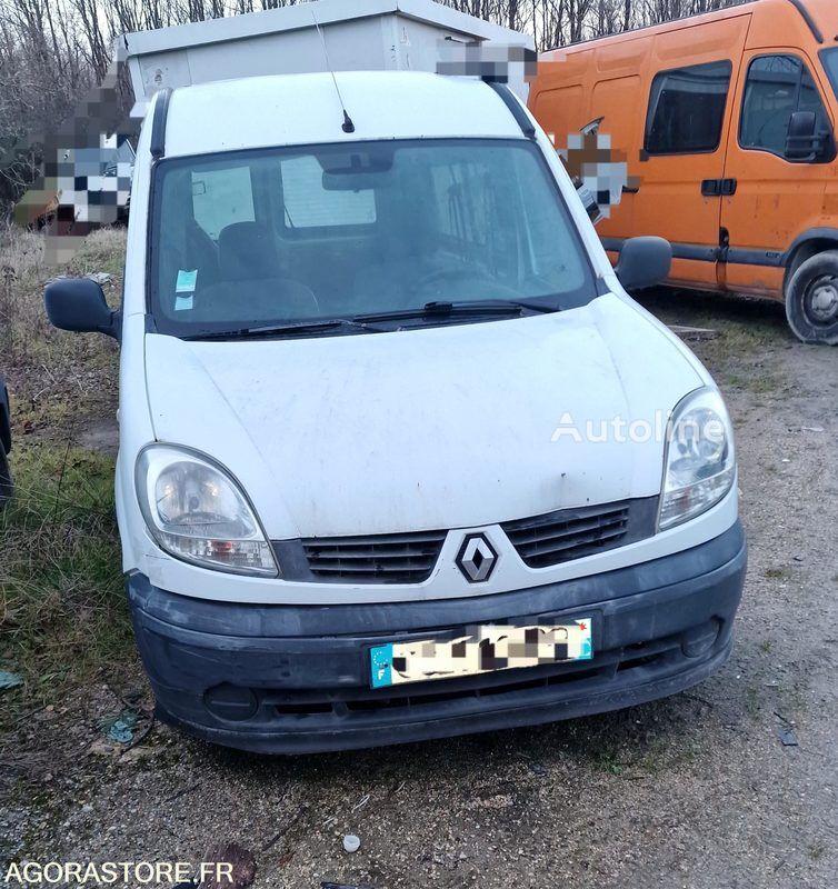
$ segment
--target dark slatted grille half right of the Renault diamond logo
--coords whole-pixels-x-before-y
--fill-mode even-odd
[[[650,499],[657,507],[657,498]],[[623,500],[508,521],[501,528],[525,565],[548,568],[650,537],[654,515],[646,500]]]

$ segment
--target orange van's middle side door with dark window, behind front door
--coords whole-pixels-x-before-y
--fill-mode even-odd
[[[748,13],[684,27],[657,34],[651,44],[642,151],[639,164],[629,164],[639,174],[632,227],[635,234],[671,242],[672,283],[717,287],[718,183],[749,21]]]

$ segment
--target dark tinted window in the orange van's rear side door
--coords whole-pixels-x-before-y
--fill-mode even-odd
[[[649,154],[697,154],[721,142],[730,61],[694,64],[655,77],[646,116]]]

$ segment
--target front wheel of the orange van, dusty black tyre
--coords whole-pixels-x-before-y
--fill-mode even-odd
[[[807,259],[791,276],[786,318],[804,342],[838,346],[838,250]]]

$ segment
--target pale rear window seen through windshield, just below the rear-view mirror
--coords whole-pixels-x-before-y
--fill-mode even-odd
[[[340,229],[376,221],[372,189],[327,191],[323,171],[311,154],[280,161],[286,229]]]

